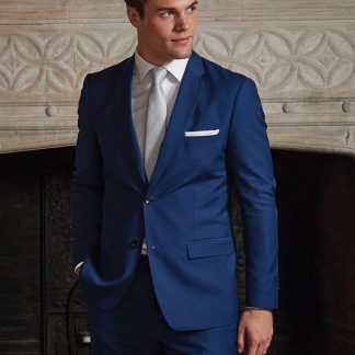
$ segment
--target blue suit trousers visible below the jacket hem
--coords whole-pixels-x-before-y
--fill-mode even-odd
[[[196,331],[169,327],[159,308],[147,256],[141,256],[124,299],[108,311],[88,304],[88,319],[92,355],[237,354],[237,323]]]

